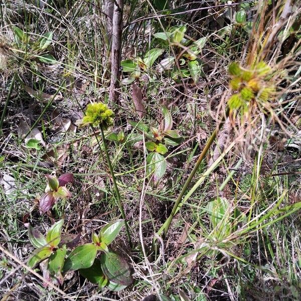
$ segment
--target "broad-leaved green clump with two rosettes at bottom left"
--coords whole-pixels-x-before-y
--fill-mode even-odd
[[[44,261],[48,279],[58,285],[63,284],[67,272],[76,270],[91,282],[97,283],[99,288],[107,286],[111,290],[120,290],[132,283],[126,260],[108,248],[119,234],[124,220],[108,223],[98,234],[92,233],[90,243],[75,248],[72,240],[76,244],[76,239],[71,238],[70,241],[70,235],[62,233],[63,223],[64,220],[56,222],[46,236],[29,224],[28,236],[37,249],[28,260],[28,266],[35,268]],[[98,251],[101,252],[100,259],[96,259]]]

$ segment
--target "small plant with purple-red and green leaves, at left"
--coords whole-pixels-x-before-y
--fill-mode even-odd
[[[71,193],[66,187],[74,181],[73,174],[68,173],[57,178],[56,176],[46,175],[48,180],[48,190],[40,199],[40,213],[50,210],[58,199],[70,198]]]

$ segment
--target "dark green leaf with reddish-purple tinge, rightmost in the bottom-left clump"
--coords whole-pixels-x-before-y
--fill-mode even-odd
[[[132,283],[129,265],[123,257],[109,251],[101,254],[100,262],[102,271],[110,282],[126,286]]]

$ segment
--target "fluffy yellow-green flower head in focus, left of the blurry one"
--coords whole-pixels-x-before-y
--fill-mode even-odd
[[[83,124],[92,124],[93,126],[100,126],[106,130],[113,124],[114,113],[106,104],[102,102],[90,103],[85,111]]]

